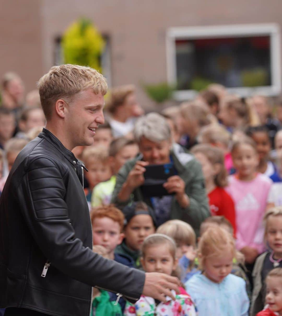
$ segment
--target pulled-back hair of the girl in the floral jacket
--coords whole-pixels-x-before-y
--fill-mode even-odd
[[[142,248],[141,248],[141,256],[142,258],[145,258],[146,256],[146,249],[150,248],[150,247],[155,247],[155,246],[159,246],[159,245],[163,245],[163,244],[167,244],[169,247],[169,253],[171,254],[171,256],[173,257],[173,259],[176,259],[176,244],[174,242],[174,240],[165,235],[165,234],[152,234],[147,236],[144,239]]]

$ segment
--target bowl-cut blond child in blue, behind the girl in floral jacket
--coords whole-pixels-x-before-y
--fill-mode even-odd
[[[185,283],[195,273],[200,271],[195,267],[196,234],[188,223],[180,220],[170,220],[162,224],[156,233],[171,237],[176,243],[176,258],[179,260],[181,282]]]

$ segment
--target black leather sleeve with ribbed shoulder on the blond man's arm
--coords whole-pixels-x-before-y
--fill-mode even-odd
[[[32,237],[51,264],[68,276],[138,300],[144,272],[97,255],[75,237],[64,200],[69,169],[60,167],[48,158],[37,158],[26,167],[17,188]]]

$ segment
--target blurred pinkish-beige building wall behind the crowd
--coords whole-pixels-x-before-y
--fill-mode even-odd
[[[9,0],[1,1],[0,76],[17,71],[27,90],[54,64],[55,40],[78,17],[109,36],[113,86],[167,80],[166,30],[246,23],[282,25],[281,0]],[[2,46],[1,45],[1,46]]]

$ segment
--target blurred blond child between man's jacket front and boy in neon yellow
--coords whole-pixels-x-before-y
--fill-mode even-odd
[[[88,169],[88,172],[85,172],[84,174],[89,188],[85,188],[84,191],[86,200],[90,205],[91,194],[95,185],[102,181],[109,180],[112,176],[108,149],[104,146],[87,147],[82,153],[82,161]]]

